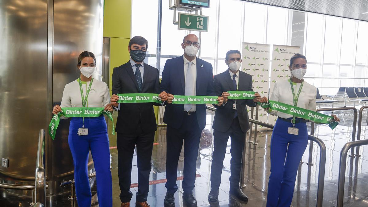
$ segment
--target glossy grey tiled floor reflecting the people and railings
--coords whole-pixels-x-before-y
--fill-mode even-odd
[[[334,107],[341,106],[336,104]],[[323,106],[321,106],[323,107]],[[325,106],[329,107],[329,106]],[[357,105],[357,109],[359,110]],[[330,112],[325,112],[330,114]],[[271,132],[262,131],[258,132],[257,143],[258,145],[252,145],[247,143],[246,146],[246,161],[245,161],[245,184],[244,192],[248,195],[249,201],[247,203],[240,203],[233,197],[229,196],[229,176],[230,176],[230,139],[227,143],[227,154],[223,162],[222,172],[222,184],[219,190],[219,203],[209,203],[207,200],[208,193],[210,191],[210,165],[212,161],[212,120],[213,112],[208,111],[207,124],[202,133],[201,145],[198,152],[197,160],[197,179],[195,182],[195,189],[193,191],[194,196],[197,198],[198,206],[250,206],[250,207],[262,207],[266,206],[267,198],[267,185],[270,169],[269,158],[269,145]],[[315,136],[319,137],[326,145],[326,165],[325,165],[325,182],[323,192],[323,206],[336,206],[337,199],[337,180],[339,173],[339,160],[340,150],[343,145],[351,140],[353,114],[351,111],[336,112],[341,119],[339,126],[336,129],[331,130],[326,125],[316,124]],[[116,116],[116,114],[114,114]],[[367,113],[363,115],[363,123],[361,130],[361,139],[368,138],[368,127],[365,123],[367,119]],[[310,130],[310,123],[308,123]],[[166,127],[158,127],[155,144],[153,146],[152,154],[152,171],[150,180],[162,180],[165,179],[165,165],[166,165]],[[249,136],[249,134],[248,134]],[[248,137],[247,136],[247,140]],[[116,138],[110,137],[110,146],[116,146]],[[368,206],[368,151],[365,150],[365,146],[360,148],[359,158],[348,158],[345,178],[345,191],[344,191],[344,206]],[[112,178],[113,178],[113,206],[120,206],[119,199],[119,186],[117,178],[117,150],[110,150],[112,155]],[[315,143],[313,144],[312,163],[313,166],[306,165],[308,162],[309,144],[307,150],[303,155],[304,164],[300,165],[297,180],[295,183],[294,197],[291,205],[293,207],[305,207],[315,206],[316,194],[318,186],[318,173],[319,173],[319,147]],[[180,162],[178,165],[178,176],[183,176],[183,159],[184,152],[180,156]],[[91,180],[93,181],[93,180]],[[176,206],[183,206],[182,195],[183,190],[181,188],[182,180],[178,180],[179,190],[175,194]],[[96,182],[91,182],[93,204],[92,206],[99,206],[96,196]],[[136,155],[133,159],[132,167],[132,180],[131,183],[137,183],[137,158]],[[148,203],[152,207],[162,207],[163,200],[166,193],[165,183],[158,183],[150,185],[150,191],[148,194]],[[133,187],[131,191],[135,195],[138,188]],[[13,197],[4,199],[3,194],[0,191],[0,206],[28,206],[30,197]],[[7,195],[8,196],[8,195]],[[53,199],[53,198],[52,198]],[[67,200],[67,196],[57,198],[57,203],[54,206],[71,206],[70,201]],[[135,203],[135,196],[132,197],[131,203]],[[134,205],[132,205],[134,206]]]

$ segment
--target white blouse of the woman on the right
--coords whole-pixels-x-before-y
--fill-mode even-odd
[[[301,85],[300,83],[293,84],[295,96],[299,91],[300,85]],[[299,95],[297,106],[300,108],[316,111],[316,95],[317,95],[317,88],[304,81],[303,88],[301,89]],[[293,92],[291,91],[289,79],[276,81],[275,86],[273,87],[272,94],[270,96],[270,100],[294,106]],[[268,113],[270,115],[279,116],[284,119],[293,117],[292,115],[279,112],[277,110],[271,110],[268,111]]]

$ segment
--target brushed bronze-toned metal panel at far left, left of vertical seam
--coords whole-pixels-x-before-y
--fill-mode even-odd
[[[47,126],[47,0],[0,1],[1,177],[33,179],[38,131]]]

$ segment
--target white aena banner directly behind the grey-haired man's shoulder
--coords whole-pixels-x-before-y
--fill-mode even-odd
[[[262,97],[268,97],[270,45],[243,42],[242,55],[241,68],[243,72],[252,76],[253,90],[261,94]],[[248,113],[251,117],[250,108],[248,108]],[[255,118],[255,108],[252,118]],[[267,122],[267,113],[263,111],[262,107],[258,109],[258,120]],[[262,126],[258,126],[258,128],[262,128]]]

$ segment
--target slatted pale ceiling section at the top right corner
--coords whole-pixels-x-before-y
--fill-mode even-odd
[[[368,0],[244,0],[337,17],[368,21]],[[363,14],[366,13],[367,14]]]

